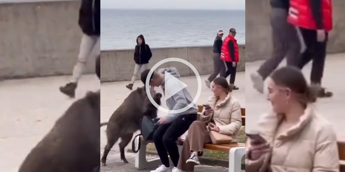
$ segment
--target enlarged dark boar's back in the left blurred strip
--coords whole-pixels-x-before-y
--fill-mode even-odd
[[[75,101],[34,147],[18,172],[96,172],[100,91]]]

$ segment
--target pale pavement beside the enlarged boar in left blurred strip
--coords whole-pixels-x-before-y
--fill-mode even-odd
[[[62,95],[59,86],[70,76],[0,82],[0,171],[17,172],[30,150],[76,99]],[[84,75],[77,98],[98,90],[96,75]]]

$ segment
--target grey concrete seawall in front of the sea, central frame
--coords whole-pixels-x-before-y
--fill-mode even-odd
[[[178,57],[190,62],[200,75],[213,72],[212,46],[152,48],[151,51],[149,68],[163,59]],[[134,49],[101,50],[101,82],[130,80],[135,66],[133,54]],[[239,56],[237,71],[245,71],[245,45],[239,45]],[[169,66],[176,67],[181,76],[195,75],[187,65],[180,62],[168,62],[160,67]]]

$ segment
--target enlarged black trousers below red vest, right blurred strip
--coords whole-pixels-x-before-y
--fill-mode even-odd
[[[326,33],[325,41],[318,42],[316,30],[300,28],[300,31],[303,36],[306,50],[302,54],[302,57],[300,57],[298,67],[302,69],[306,64],[313,60],[310,80],[312,83],[321,84],[326,61],[328,33]]]

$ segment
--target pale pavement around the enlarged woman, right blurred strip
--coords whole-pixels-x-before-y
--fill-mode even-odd
[[[337,136],[345,140],[345,54],[327,55],[322,85],[334,93],[332,98],[318,99],[317,109],[334,125]],[[266,96],[258,93],[250,80],[250,73],[255,72],[263,61],[246,63],[246,129],[256,126],[260,115],[269,111]],[[284,65],[284,64],[282,64]],[[308,64],[303,73],[309,81],[311,64]]]

